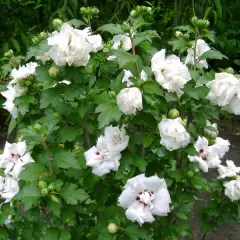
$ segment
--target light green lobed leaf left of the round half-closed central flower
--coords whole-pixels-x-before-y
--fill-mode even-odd
[[[95,112],[100,113],[98,116],[98,128],[103,128],[112,121],[119,121],[122,115],[117,104],[113,102],[99,104]]]

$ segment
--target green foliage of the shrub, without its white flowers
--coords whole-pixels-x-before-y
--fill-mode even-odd
[[[78,2],[64,2],[67,4],[61,8],[62,19],[69,20],[68,14],[71,18],[78,16]],[[217,2],[214,11],[220,18],[222,10]],[[127,8],[134,5],[127,3]],[[35,4],[36,11],[44,5],[41,1],[24,4]],[[68,4],[72,7],[69,8]],[[215,71],[213,68],[198,69],[197,63],[209,59],[220,61],[227,57],[214,48],[205,51],[197,60],[194,59],[193,66],[187,68],[184,65],[190,75],[181,88],[182,94],[166,89],[156,81],[155,72],[159,69],[151,69],[151,59],[159,50],[161,41],[158,33],[150,27],[158,10],[162,11],[160,7],[154,8],[152,16],[152,9],[138,6],[123,24],[108,23],[96,28],[96,19],[94,24],[88,19],[92,29],[104,36],[104,44],[102,50],[89,51],[90,59],[85,65],[65,63],[56,66],[56,61],[53,63],[51,59],[39,60],[37,57],[50,48],[46,39],[30,46],[25,56],[4,58],[7,80],[11,80],[11,69],[18,68],[21,62],[32,60],[38,66],[34,74],[18,83],[27,87],[27,92],[13,100],[19,115],[12,118],[10,132],[16,128],[16,139],[26,141],[27,151],[31,152],[34,162],[28,163],[21,171],[20,191],[13,201],[1,206],[2,239],[151,240],[190,237],[189,219],[200,192],[212,195],[208,206],[200,211],[203,234],[225,222],[237,220],[239,203],[231,202],[223,194],[223,181],[207,181],[199,170],[199,164],[189,161],[189,155],[199,156],[201,153],[194,146],[199,136],[205,136],[214,145],[215,139],[206,134],[206,128],[211,132],[214,130],[207,126],[206,121],[215,122],[222,112],[207,99],[210,91],[207,83],[214,79]],[[136,17],[133,16],[135,14]],[[86,22],[84,24],[87,25]],[[196,55],[197,40],[212,41],[215,36],[206,25],[194,25],[192,21],[179,27],[182,35],[171,38],[169,46],[173,46],[173,50],[169,50],[167,55],[177,53],[182,60],[192,46]],[[82,28],[82,24],[74,27]],[[112,49],[112,35],[115,34],[125,34],[131,47],[126,50],[121,43]],[[84,44],[87,45],[86,42]],[[116,59],[107,60],[112,55]],[[211,62],[208,63],[211,66]],[[53,72],[52,67],[58,71]],[[135,109],[136,114],[126,115],[119,110],[116,96],[126,89],[125,82],[122,82],[124,70],[131,71],[132,76],[128,80],[143,99],[142,108]],[[147,75],[145,79],[142,70]],[[161,74],[165,74],[164,71],[163,68]],[[128,104],[131,105],[136,98]],[[170,111],[173,109],[176,111]],[[189,142],[187,146],[169,150],[162,143],[163,136],[159,136],[158,124],[166,117],[176,120],[177,115],[189,134]],[[118,171],[99,177],[86,165],[84,153],[95,145],[99,136],[104,135],[104,128],[110,124],[124,126],[129,143],[121,152]],[[141,227],[128,220],[124,209],[117,203],[127,180],[140,173],[164,178],[172,200],[167,216],[156,216],[152,224]],[[224,216],[222,207],[226,209]],[[6,223],[9,216],[12,216],[10,224]],[[108,228],[110,223],[117,226],[115,231]]]

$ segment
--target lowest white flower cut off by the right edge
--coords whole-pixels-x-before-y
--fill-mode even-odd
[[[226,182],[224,184],[225,195],[232,201],[240,200],[240,176],[236,180]]]

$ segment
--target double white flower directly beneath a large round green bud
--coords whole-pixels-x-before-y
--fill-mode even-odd
[[[158,125],[161,141],[169,151],[184,148],[190,143],[190,134],[182,124],[182,119],[163,118]]]

